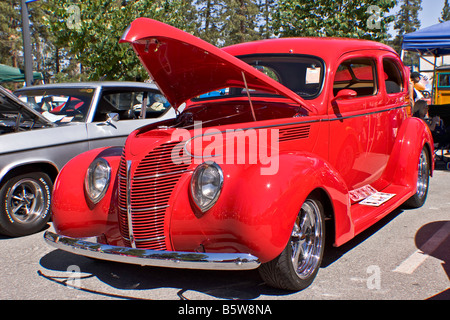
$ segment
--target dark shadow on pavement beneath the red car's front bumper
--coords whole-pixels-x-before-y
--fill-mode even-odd
[[[280,296],[292,293],[267,286],[257,270],[210,271],[145,267],[94,260],[59,249],[43,256],[40,265],[52,271],[39,270],[40,276],[61,285],[68,285],[68,281],[71,277],[73,278],[69,270],[77,266],[81,277],[80,287],[75,287],[76,289],[112,298],[189,300],[191,296],[198,297],[198,293],[202,293],[212,298],[248,300],[258,298],[260,295]],[[58,274],[55,275],[53,271],[57,271]],[[119,289],[121,293],[114,294],[113,292],[117,290],[101,292],[98,288],[104,288],[104,286],[85,282],[85,279],[93,277]],[[161,288],[174,288],[179,291],[176,295],[173,291],[157,295],[145,292],[145,290]]]

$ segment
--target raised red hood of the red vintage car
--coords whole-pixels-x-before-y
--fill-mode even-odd
[[[120,42],[129,42],[174,108],[201,94],[227,87],[283,95],[311,111],[296,93],[249,64],[165,23],[138,18]]]

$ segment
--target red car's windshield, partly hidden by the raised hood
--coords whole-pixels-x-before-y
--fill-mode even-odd
[[[303,99],[313,99],[320,94],[324,79],[321,59],[306,55],[249,55],[238,57],[270,78],[291,89]],[[273,96],[273,93],[250,90],[252,96]],[[194,101],[217,97],[246,96],[245,88],[222,88],[203,94]]]

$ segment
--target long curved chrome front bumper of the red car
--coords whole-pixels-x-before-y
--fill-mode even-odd
[[[53,247],[78,255],[142,266],[201,270],[251,270],[260,265],[257,257],[246,253],[198,253],[127,248],[70,238],[50,231],[45,232],[44,239]]]

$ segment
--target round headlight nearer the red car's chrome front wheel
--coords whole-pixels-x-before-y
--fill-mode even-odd
[[[219,198],[223,185],[223,172],[218,164],[205,162],[199,165],[191,178],[191,195],[198,208],[205,212]]]

